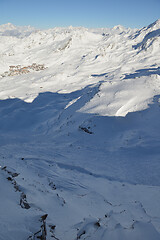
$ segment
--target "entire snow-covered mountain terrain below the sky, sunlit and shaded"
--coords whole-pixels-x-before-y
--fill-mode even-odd
[[[0,240],[160,239],[160,20],[0,26]]]

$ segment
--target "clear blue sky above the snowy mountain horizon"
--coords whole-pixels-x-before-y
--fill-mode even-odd
[[[143,27],[160,18],[160,0],[0,0],[0,24]]]

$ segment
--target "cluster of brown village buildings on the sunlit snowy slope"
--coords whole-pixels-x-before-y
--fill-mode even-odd
[[[9,71],[6,71],[3,74],[1,74],[1,77],[27,74],[30,71],[41,71],[44,69],[45,69],[44,64],[36,64],[36,63],[33,63],[32,65],[27,67],[22,67],[21,65],[9,66]]]

